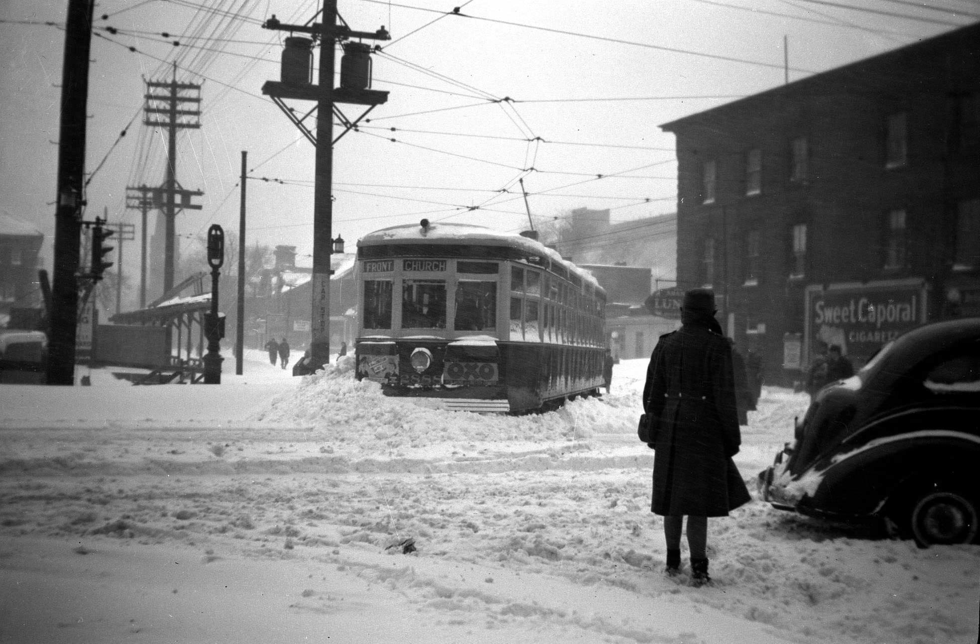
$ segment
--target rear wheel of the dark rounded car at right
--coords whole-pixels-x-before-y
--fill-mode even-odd
[[[909,527],[921,547],[971,543],[977,536],[977,504],[955,491],[934,489],[911,504]]]

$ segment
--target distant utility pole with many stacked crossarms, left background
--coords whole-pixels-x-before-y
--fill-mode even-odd
[[[183,92],[183,93],[181,93]],[[166,127],[170,136],[167,147],[167,178],[164,185],[154,191],[155,202],[162,206],[166,218],[164,249],[164,292],[173,288],[173,257],[176,243],[175,222],[179,210],[201,210],[191,205],[190,197],[204,194],[200,190],[184,190],[177,181],[177,130],[201,127],[201,85],[177,82],[177,64],[173,63],[170,81],[147,81],[146,119],[144,125]],[[177,196],[180,204],[177,204]]]

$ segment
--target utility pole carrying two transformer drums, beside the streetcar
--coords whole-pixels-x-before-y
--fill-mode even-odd
[[[331,239],[333,204],[331,186],[333,182],[333,144],[364,119],[375,106],[388,100],[388,92],[375,91],[370,87],[370,46],[360,42],[344,44],[344,59],[341,61],[340,87],[334,88],[335,67],[334,44],[350,37],[388,40],[390,35],[382,26],[374,32],[354,31],[348,25],[337,25],[337,1],[324,0],[322,24],[308,21],[306,25],[283,25],[273,15],[263,28],[291,33],[309,33],[319,37],[319,84],[310,82],[309,66],[311,56],[308,38],[286,38],[286,49],[282,55],[281,82],[268,81],[262,91],[271,97],[272,102],[282,110],[303,134],[317,147],[317,161],[314,187],[313,223],[313,315],[311,316],[313,338],[310,343],[311,365],[314,370],[321,369],[330,362],[330,256],[334,241]],[[343,21],[341,21],[343,22]],[[282,99],[299,99],[317,102],[317,132],[310,131],[302,119],[286,107]],[[359,118],[350,120],[337,107],[337,103],[353,103],[368,106]],[[333,115],[336,114],[345,125],[343,132],[333,138]],[[309,116],[309,114],[307,115]]]

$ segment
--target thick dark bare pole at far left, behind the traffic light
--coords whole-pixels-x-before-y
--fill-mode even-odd
[[[78,251],[85,172],[88,56],[94,0],[69,0],[62,68],[61,130],[55,201],[55,264],[48,326],[48,384],[74,384]]]

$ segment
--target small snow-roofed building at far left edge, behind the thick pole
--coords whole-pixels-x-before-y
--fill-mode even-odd
[[[43,242],[32,223],[0,213],[0,326],[10,322],[12,309],[40,308],[37,255]]]

